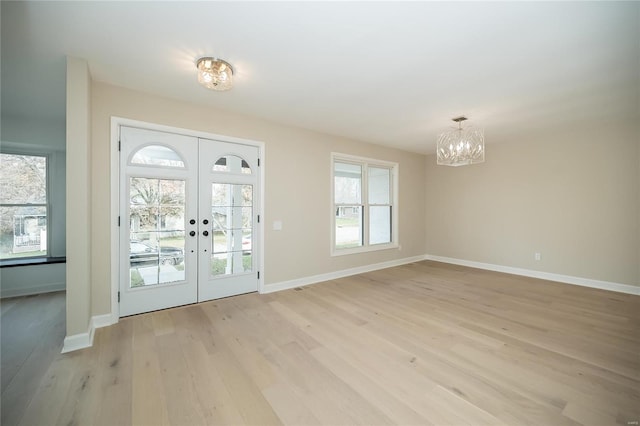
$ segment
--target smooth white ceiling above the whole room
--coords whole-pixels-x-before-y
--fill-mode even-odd
[[[487,143],[640,118],[640,2],[7,2],[2,113],[62,119],[96,81],[415,152],[464,114]],[[229,92],[195,61],[235,70]]]

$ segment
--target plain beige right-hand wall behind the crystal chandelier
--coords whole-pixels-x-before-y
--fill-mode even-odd
[[[428,156],[427,253],[640,286],[636,123],[522,135],[469,167]]]

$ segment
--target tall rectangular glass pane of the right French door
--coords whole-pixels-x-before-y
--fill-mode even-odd
[[[253,186],[211,184],[211,275],[253,270]]]

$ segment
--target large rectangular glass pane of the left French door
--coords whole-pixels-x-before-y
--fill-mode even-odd
[[[129,179],[131,287],[185,279],[185,181]]]

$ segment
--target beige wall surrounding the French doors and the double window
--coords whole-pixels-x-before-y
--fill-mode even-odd
[[[212,93],[212,96],[215,96]],[[101,83],[92,87],[92,312],[110,312],[111,116],[265,143],[265,283],[305,278],[425,253],[423,155],[272,124]],[[331,257],[330,153],[400,164],[400,250]],[[273,231],[274,220],[283,229]]]

